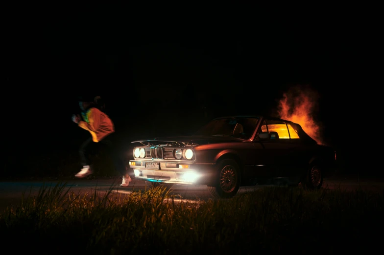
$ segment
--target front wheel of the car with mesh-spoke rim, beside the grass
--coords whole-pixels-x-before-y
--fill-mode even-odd
[[[214,197],[231,198],[239,191],[240,181],[239,165],[235,160],[224,159],[218,163],[214,184],[208,186],[208,190]]]

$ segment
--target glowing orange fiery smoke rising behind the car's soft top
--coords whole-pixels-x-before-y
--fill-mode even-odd
[[[320,127],[313,119],[318,94],[311,89],[291,88],[279,101],[280,118],[299,124],[318,144],[322,144]]]

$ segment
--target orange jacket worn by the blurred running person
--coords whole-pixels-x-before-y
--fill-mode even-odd
[[[112,120],[97,108],[88,109],[83,119],[78,125],[91,133],[95,143],[101,141],[106,135],[115,132]]]

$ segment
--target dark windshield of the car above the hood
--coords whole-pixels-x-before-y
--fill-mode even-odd
[[[194,135],[234,136],[242,139],[251,138],[259,118],[231,117],[216,119],[198,130]]]

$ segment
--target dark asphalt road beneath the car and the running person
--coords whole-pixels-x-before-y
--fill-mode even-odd
[[[23,192],[24,196],[28,194],[35,196],[39,189],[46,185],[54,187],[56,184],[65,181],[7,181],[0,182],[0,212],[3,212],[7,207],[17,207],[20,205]],[[99,180],[84,180],[76,179],[67,181],[65,191],[70,189],[76,194],[93,194],[95,191],[99,195],[105,194],[109,189],[121,194],[129,194],[135,190],[144,190],[145,183],[143,181],[133,180],[128,187],[120,187],[121,180],[99,179]],[[255,189],[263,189],[267,185],[246,186],[241,187],[239,193],[253,191]],[[335,189],[340,187],[342,190],[355,190],[359,187],[371,191],[384,191],[384,179],[367,179],[358,177],[338,177],[332,179],[324,179],[323,187]],[[172,194],[180,195],[179,201],[199,201],[212,198],[207,186],[182,186],[173,185]],[[176,201],[177,201],[176,200]]]

